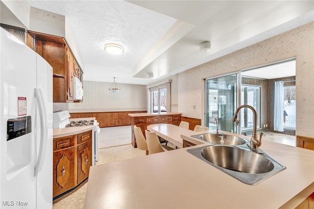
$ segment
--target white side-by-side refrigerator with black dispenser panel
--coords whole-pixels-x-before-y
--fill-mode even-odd
[[[0,208],[52,208],[52,67],[0,29]]]

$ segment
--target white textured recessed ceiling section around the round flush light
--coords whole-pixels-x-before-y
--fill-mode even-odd
[[[66,17],[84,63],[84,80],[142,83],[132,68],[177,21],[127,1],[32,0],[32,7]],[[107,43],[124,53],[105,52]],[[129,81],[128,81],[129,80]]]

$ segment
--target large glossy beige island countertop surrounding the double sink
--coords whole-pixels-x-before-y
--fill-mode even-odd
[[[186,152],[203,141],[182,138],[200,145],[91,167],[85,208],[290,209],[314,191],[314,151],[264,140],[287,169],[248,185]]]

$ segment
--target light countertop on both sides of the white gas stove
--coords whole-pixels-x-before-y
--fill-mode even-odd
[[[80,121],[80,120],[95,120],[92,118],[69,118],[69,121]],[[69,135],[74,135],[78,133],[82,133],[85,131],[92,130],[94,126],[78,126],[78,127],[67,127],[67,128],[59,128],[53,129],[53,138],[59,138]]]

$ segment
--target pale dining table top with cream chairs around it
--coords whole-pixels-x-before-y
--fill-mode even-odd
[[[181,134],[185,135],[198,134],[198,132],[166,123],[149,125],[147,126],[147,130],[155,132],[157,136],[165,139],[171,144],[177,146],[178,148],[183,148],[183,139],[181,138]]]

